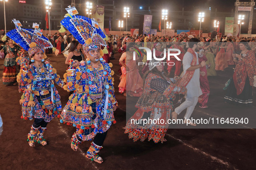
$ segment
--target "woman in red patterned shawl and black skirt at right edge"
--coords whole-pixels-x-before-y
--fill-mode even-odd
[[[224,100],[227,103],[243,106],[253,105],[253,76],[256,76],[255,54],[246,40],[239,42],[241,53],[233,54],[237,63],[232,78],[226,83]]]

